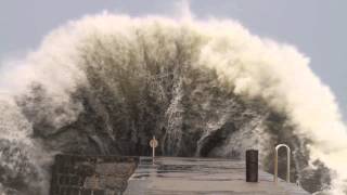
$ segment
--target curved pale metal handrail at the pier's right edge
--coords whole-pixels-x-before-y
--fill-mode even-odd
[[[278,182],[279,176],[279,150],[281,147],[286,147],[286,182],[291,182],[291,147],[285,144],[279,144],[274,147],[274,174],[273,181]]]

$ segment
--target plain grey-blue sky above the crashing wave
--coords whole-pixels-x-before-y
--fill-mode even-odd
[[[53,28],[86,14],[107,10],[133,16],[175,15],[178,2],[0,0],[0,61],[23,56]],[[190,6],[197,18],[232,18],[253,34],[296,46],[311,58],[313,72],[336,94],[347,120],[346,0],[191,0]]]

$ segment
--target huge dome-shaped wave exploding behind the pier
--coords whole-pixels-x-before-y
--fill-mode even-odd
[[[292,182],[346,194],[347,130],[295,48],[233,21],[102,14],[0,72],[0,192],[48,194],[57,153],[244,158],[293,150]],[[285,167],[285,158],[280,167]],[[284,171],[281,170],[282,177]]]

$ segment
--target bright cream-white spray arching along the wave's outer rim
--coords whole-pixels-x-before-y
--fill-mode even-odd
[[[151,34],[160,28],[168,36],[177,29],[203,40],[196,67],[215,69],[221,83],[246,99],[260,98],[269,106],[285,113],[296,126],[295,133],[311,141],[311,160],[320,159],[336,171],[334,194],[342,194],[347,179],[347,130],[329,87],[309,68],[309,58],[294,47],[259,38],[233,21],[194,21],[187,1],[183,17],[189,23],[162,17],[130,18],[126,15],[87,16],[54,30],[37,52],[18,61],[16,68],[2,73],[0,83],[15,94],[26,93],[27,84],[42,83],[55,106],[69,105],[69,94],[87,84],[79,66],[81,42],[98,35],[124,35],[131,39],[136,29]],[[183,20],[184,21],[184,20]],[[171,30],[176,29],[176,30]],[[222,86],[222,84],[221,84]],[[80,108],[81,109],[81,108]],[[60,122],[75,120],[80,109]],[[56,125],[59,127],[59,125]],[[4,132],[1,132],[3,136]]]

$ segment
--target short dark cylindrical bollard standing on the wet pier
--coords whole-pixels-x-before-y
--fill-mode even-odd
[[[246,182],[258,182],[258,151],[246,151]]]

